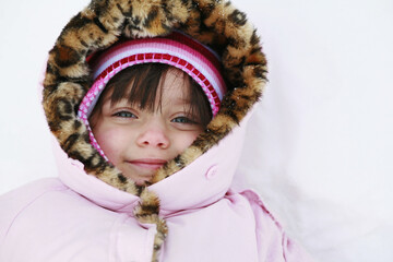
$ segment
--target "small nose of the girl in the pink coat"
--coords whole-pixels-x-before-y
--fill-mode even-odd
[[[146,124],[138,136],[136,144],[142,147],[154,146],[165,150],[170,142],[164,124],[155,122]]]

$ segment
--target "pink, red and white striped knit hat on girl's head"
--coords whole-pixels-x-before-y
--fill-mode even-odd
[[[83,98],[78,116],[86,124],[92,144],[105,157],[90,128],[88,117],[109,80],[121,70],[139,63],[167,63],[181,69],[199,83],[218,112],[226,92],[217,55],[209,47],[179,32],[165,37],[120,41],[98,56],[86,59],[92,66],[94,83]],[[107,157],[105,157],[107,159]]]

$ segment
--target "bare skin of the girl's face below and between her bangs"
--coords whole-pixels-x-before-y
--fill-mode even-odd
[[[160,81],[156,110],[141,110],[127,98],[111,104],[108,92],[100,112],[91,118],[93,133],[106,156],[138,184],[150,180],[156,169],[186,150],[203,130],[200,117],[190,115],[184,92],[189,82],[183,80],[183,73],[171,69]]]

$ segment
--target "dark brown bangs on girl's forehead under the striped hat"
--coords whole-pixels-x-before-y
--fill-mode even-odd
[[[159,109],[162,106],[162,99],[160,97],[157,97],[157,94],[162,94],[159,81],[163,76],[165,78],[170,69],[176,68],[165,63],[142,63],[123,69],[106,85],[92,111],[91,119],[96,116],[96,114],[100,112],[103,98],[105,97],[105,94],[110,91],[112,91],[110,97],[111,104],[116,104],[128,96],[130,105],[138,104],[142,110],[146,109],[155,111]],[[199,116],[201,124],[206,127],[212,120],[212,109],[206,95],[202,91],[202,87],[190,75],[182,72],[182,76],[180,78],[183,78],[184,86],[188,86],[188,88],[184,90],[184,96],[191,98],[190,114]],[[158,108],[155,108],[157,98]],[[92,122],[91,124],[94,126]]]

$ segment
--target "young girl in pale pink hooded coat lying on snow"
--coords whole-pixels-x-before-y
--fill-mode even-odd
[[[44,81],[59,179],[2,196],[0,261],[311,261],[233,183],[265,74],[229,2],[92,1]]]

